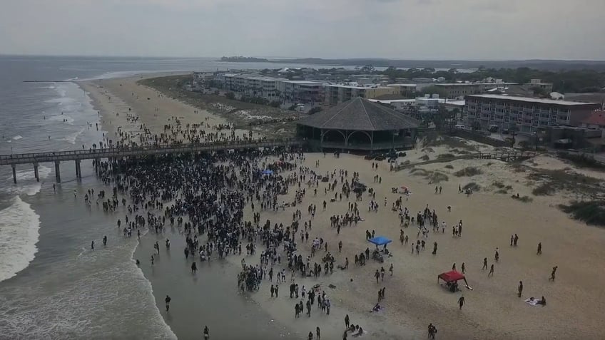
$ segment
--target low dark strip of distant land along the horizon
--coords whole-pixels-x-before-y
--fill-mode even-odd
[[[232,56],[220,58],[220,61],[231,62],[265,62],[286,64],[307,64],[317,66],[374,66],[374,67],[396,67],[396,68],[534,68],[548,71],[569,71],[589,69],[594,71],[605,71],[605,61],[584,60],[502,60],[502,61],[469,61],[469,60],[405,60],[385,58],[349,58],[349,59],[323,59],[323,58],[292,58],[292,59],[267,59],[243,56]]]

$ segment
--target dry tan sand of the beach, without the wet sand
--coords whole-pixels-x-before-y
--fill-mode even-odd
[[[111,112],[123,112],[123,108],[132,107],[150,128],[160,128],[168,122],[171,115],[178,115],[188,123],[200,121],[200,115],[193,114],[194,108],[166,97],[158,97],[156,91],[135,84],[136,78],[111,79],[97,81],[95,84],[83,84],[91,92],[96,105],[106,110],[103,120],[111,120],[110,126],[123,126],[127,123],[113,118]],[[99,84],[103,88],[98,88]],[[122,84],[122,86],[120,86]],[[111,101],[103,95],[111,93]],[[134,95],[132,94],[134,93]],[[121,97],[118,101],[114,96]],[[151,98],[147,100],[147,97]],[[158,114],[170,112],[171,115]],[[111,119],[108,115],[111,115]],[[213,122],[220,118],[208,112],[201,113]],[[106,125],[103,125],[106,126]],[[136,127],[131,127],[136,130]],[[111,128],[109,128],[111,130]],[[111,131],[110,131],[111,133]],[[477,145],[482,151],[492,150],[485,145]],[[432,147],[430,150],[410,150],[406,158],[412,163],[419,161],[423,153],[431,158],[441,153],[454,153],[451,148]],[[320,167],[315,168],[315,160],[320,160]],[[312,170],[326,172],[335,169],[359,171],[360,179],[376,190],[376,200],[380,203],[377,213],[367,212],[370,197],[367,193],[360,202],[360,213],[365,221],[357,227],[344,227],[340,235],[330,228],[331,215],[344,215],[347,202],[330,203],[324,195],[325,183],[320,183],[317,197],[312,197],[312,190],[307,189],[303,204],[286,208],[284,212],[263,212],[261,220],[270,219],[272,223],[289,224],[296,209],[303,212],[303,223],[310,216],[307,206],[317,205],[317,215],[313,220],[310,238],[323,237],[329,244],[329,251],[336,257],[337,263],[350,260],[350,269],[336,270],[334,274],[319,279],[300,279],[297,282],[310,287],[315,283],[322,284],[332,301],[330,317],[318,318],[319,312],[313,309],[312,321],[294,319],[294,300],[288,299],[288,284],[282,285],[280,297],[270,299],[270,284],[263,282],[260,292],[253,294],[263,309],[276,320],[300,329],[306,334],[315,326],[322,328],[325,339],[340,339],[342,334],[342,316],[349,313],[352,322],[361,324],[369,330],[370,339],[424,339],[429,322],[437,326],[439,339],[603,339],[601,331],[602,315],[605,312],[605,270],[601,260],[605,258],[605,230],[588,227],[581,222],[571,220],[566,214],[554,207],[562,201],[568,201],[574,194],[534,197],[532,187],[527,180],[528,172],[518,172],[510,165],[498,160],[457,160],[450,163],[434,163],[421,167],[427,171],[439,170],[447,175],[448,180],[440,182],[443,187],[441,195],[434,194],[434,184],[429,184],[424,176],[410,173],[410,170],[390,172],[386,162],[380,163],[378,170],[372,170],[371,161],[359,156],[332,155],[320,153],[307,154],[305,165]],[[451,165],[452,169],[445,168]],[[560,160],[549,156],[540,156],[524,163],[528,168],[560,168],[574,170]],[[457,170],[469,166],[482,170],[481,175],[456,177]],[[531,170],[531,169],[530,169]],[[576,170],[583,172],[581,170]],[[605,180],[602,172],[584,172],[585,175]],[[382,183],[374,183],[374,175],[382,177]],[[482,187],[470,197],[458,194],[458,185],[475,182]],[[496,193],[499,188],[494,182],[512,186],[507,194]],[[415,242],[415,227],[405,230],[410,235],[410,244],[402,246],[398,242],[400,222],[397,212],[390,206],[400,195],[391,193],[391,187],[405,185],[412,190],[409,201],[403,201],[412,216],[423,210],[426,205],[437,211],[439,220],[447,222],[449,229],[444,234],[429,233],[427,249],[420,255],[411,254],[411,244]],[[306,187],[306,185],[305,185]],[[512,200],[512,194],[528,195],[533,202]],[[293,200],[294,190],[290,190],[289,199]],[[333,193],[332,193],[333,195]],[[387,197],[387,207],[382,202]],[[352,200],[353,197],[351,197]],[[322,201],[327,200],[327,210],[322,212]],[[452,206],[452,212],[446,207]],[[245,210],[245,219],[251,220],[251,210]],[[452,237],[451,226],[462,220],[464,222],[462,237]],[[430,229],[430,228],[429,228]],[[376,235],[385,235],[393,239],[389,248],[394,255],[383,264],[368,261],[365,267],[353,266],[355,254],[371,244],[365,242],[365,230],[375,230]],[[509,247],[509,238],[519,235],[518,247]],[[342,253],[337,252],[337,243],[343,242]],[[432,242],[439,244],[437,255],[431,254]],[[542,255],[536,254],[537,244],[542,242]],[[482,270],[482,259],[487,257],[489,264],[494,263],[494,251],[499,247],[500,261],[495,265],[494,277],[487,277],[487,270]],[[308,244],[299,247],[303,257],[310,251]],[[320,252],[318,255],[322,255]],[[320,257],[315,257],[320,262]],[[230,261],[238,263],[237,257]],[[247,259],[256,263],[258,259]],[[473,290],[462,288],[462,292],[452,294],[437,284],[437,274],[448,271],[453,263],[459,269],[462,262],[466,264],[467,280]],[[385,277],[384,282],[376,284],[372,274],[376,269],[390,264],[395,267],[395,275]],[[559,266],[555,282],[549,282],[551,268]],[[352,281],[351,281],[352,279]],[[233,278],[235,280],[235,277]],[[517,284],[523,281],[522,298],[517,297]],[[327,288],[335,284],[336,289]],[[382,302],[384,311],[369,313],[377,302],[378,289],[386,287],[386,299]],[[234,292],[235,293],[235,292]],[[457,299],[464,294],[467,304],[462,311],[458,309]],[[529,306],[524,303],[527,297],[546,297],[548,304],[544,307]],[[307,330],[306,332],[304,330]],[[178,333],[178,331],[177,331]]]

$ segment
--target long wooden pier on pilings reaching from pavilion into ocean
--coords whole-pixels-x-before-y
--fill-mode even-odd
[[[189,143],[181,145],[157,145],[136,148],[102,148],[89,150],[56,151],[49,153],[19,153],[0,155],[0,165],[11,165],[13,182],[16,184],[16,166],[19,164],[34,165],[34,175],[40,181],[39,163],[54,163],[56,182],[61,182],[61,162],[73,161],[76,165],[76,177],[82,177],[81,160],[93,160],[97,170],[101,159],[117,160],[125,157],[145,155],[166,155],[170,153],[199,153],[218,150],[243,150],[250,148],[276,148],[303,145],[301,140],[241,140],[237,142]]]

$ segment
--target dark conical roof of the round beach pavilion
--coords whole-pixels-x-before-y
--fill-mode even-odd
[[[418,128],[420,122],[364,98],[353,98],[297,122],[326,130],[383,131]]]

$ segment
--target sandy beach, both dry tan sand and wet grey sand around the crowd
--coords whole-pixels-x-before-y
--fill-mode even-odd
[[[156,76],[156,75],[154,75]],[[166,124],[178,118],[181,125],[203,123],[207,125],[228,124],[224,118],[186,105],[161,93],[136,83],[141,77],[114,78],[80,83],[90,93],[93,105],[101,114],[103,129],[118,139],[118,128],[136,135],[141,133],[141,123],[154,133],[162,133]],[[129,110],[130,109],[130,110]],[[128,115],[138,120],[128,120]],[[208,128],[212,131],[211,128]],[[248,130],[237,130],[238,136],[248,135]],[[254,136],[258,138],[258,135]],[[461,142],[462,143],[462,142]],[[494,148],[477,143],[467,143],[468,148],[488,152]],[[462,147],[452,148],[439,145],[408,150],[405,158],[411,163],[419,162],[427,155],[430,159],[439,154],[456,154]],[[315,162],[319,161],[319,167]],[[363,221],[352,227],[343,227],[340,235],[330,227],[330,216],[344,215],[349,202],[330,202],[334,192],[324,194],[325,183],[317,187],[317,197],[307,187],[307,195],[300,206],[287,207],[278,212],[264,211],[261,220],[271,222],[292,221],[295,210],[302,210],[301,221],[310,220],[305,207],[317,205],[317,215],[312,221],[312,238],[321,237],[329,245],[328,251],[336,263],[348,257],[351,266],[347,270],[335,269],[333,274],[319,278],[296,278],[298,284],[312,287],[320,284],[332,302],[330,316],[321,314],[315,307],[312,316],[294,319],[293,305],[298,300],[288,297],[288,284],[280,289],[279,299],[271,299],[270,282],[263,280],[259,292],[239,294],[236,275],[242,257],[205,262],[200,265],[196,277],[192,277],[189,265],[183,258],[184,237],[175,228],[166,235],[148,234],[133,257],[141,260],[141,269],[153,287],[156,304],[166,323],[181,339],[200,336],[201,329],[208,325],[215,339],[250,336],[249,339],[305,339],[315,327],[322,329],[325,339],[340,339],[344,331],[344,316],[348,314],[352,323],[360,324],[367,331],[367,339],[421,339],[426,336],[429,323],[437,326],[439,339],[599,339],[601,337],[601,315],[605,307],[598,302],[605,298],[605,289],[599,282],[605,272],[599,259],[605,256],[605,230],[589,227],[571,220],[556,205],[569,202],[581,193],[560,190],[556,195],[535,196],[532,189],[537,181],[528,179],[532,171],[554,170],[575,171],[584,176],[605,180],[603,172],[577,170],[573,166],[552,158],[539,156],[521,164],[509,164],[499,160],[455,160],[450,163],[433,163],[416,170],[390,171],[386,161],[378,162],[372,169],[372,160],[362,156],[340,155],[335,158],[328,153],[305,154],[298,166],[306,166],[315,172],[334,170],[359,172],[360,181],[375,190],[375,200],[380,205],[377,212],[368,211],[371,197],[367,192],[360,205]],[[449,165],[451,168],[446,168]],[[481,173],[457,176],[455,173],[469,167]],[[418,170],[420,169],[420,170]],[[438,184],[432,181],[434,172],[447,177]],[[287,175],[285,172],[284,175]],[[380,183],[374,176],[381,177]],[[437,176],[438,177],[438,176]],[[441,177],[443,179],[443,177]],[[478,190],[472,195],[458,192],[458,187],[474,183]],[[499,183],[499,184],[496,184]],[[508,187],[506,193],[497,193]],[[442,193],[435,194],[435,185]],[[405,186],[412,194],[409,200],[404,195],[392,193],[392,187]],[[306,187],[303,184],[303,187]],[[294,200],[295,190],[283,197],[286,202]],[[532,202],[512,199],[511,195],[531,197]],[[402,197],[402,205],[410,215],[428,207],[435,210],[439,221],[444,220],[448,228],[444,233],[429,233],[427,248],[420,254],[412,254],[411,244],[417,236],[417,227],[403,228],[410,237],[410,244],[400,244],[400,218],[392,211],[392,203]],[[386,206],[383,202],[386,198]],[[322,202],[327,209],[322,211]],[[447,207],[451,207],[448,212]],[[250,205],[245,207],[244,220],[252,219]],[[462,220],[464,232],[453,237],[451,227]],[[429,228],[430,229],[430,228]],[[384,263],[368,260],[367,266],[353,266],[355,254],[367,247],[374,247],[365,239],[365,232],[375,231],[393,240],[388,249],[392,257]],[[509,246],[511,235],[519,235],[517,247]],[[148,257],[153,253],[152,244],[162,243],[166,237],[173,247],[170,254],[162,252],[156,266],[151,267]],[[342,241],[342,252],[337,244]],[[438,243],[437,254],[431,254],[433,242]],[[537,244],[542,243],[542,254],[537,255]],[[309,244],[301,244],[303,254],[310,252]],[[494,263],[494,252],[499,251],[499,262]],[[320,251],[323,255],[325,252]],[[483,259],[494,264],[494,275],[482,269]],[[318,259],[316,259],[317,261]],[[258,263],[258,256],[245,257],[248,264]],[[465,275],[472,290],[462,287],[462,292],[450,293],[437,283],[437,275],[466,265]],[[393,276],[387,272],[384,281],[375,281],[377,269],[388,269],[393,264]],[[283,264],[282,264],[283,266]],[[558,266],[556,280],[549,281],[551,268]],[[522,281],[524,291],[517,297],[517,284]],[[334,289],[328,285],[333,284]],[[377,302],[377,292],[385,287],[385,299],[380,302],[383,309],[370,313]],[[282,290],[283,289],[283,290]],[[163,311],[163,298],[173,297],[171,313]],[[457,300],[464,295],[466,305],[459,310]],[[524,302],[529,297],[546,297],[546,306],[531,306]],[[210,299],[213,298],[213,299]],[[234,311],[235,309],[236,311]],[[241,316],[241,317],[240,317]],[[241,328],[241,329],[240,329]],[[250,333],[251,332],[251,333]]]

